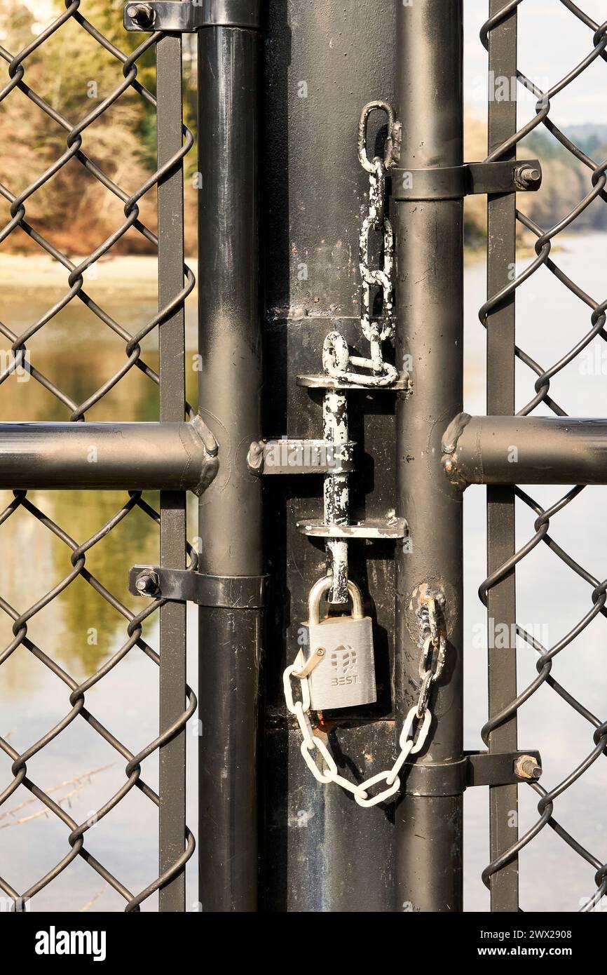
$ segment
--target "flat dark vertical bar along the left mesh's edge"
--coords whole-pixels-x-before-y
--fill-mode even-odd
[[[164,37],[156,46],[158,163],[182,145],[181,38]],[[183,168],[179,163],[158,186],[159,307],[183,288]],[[184,419],[183,306],[160,328],[160,419]],[[160,493],[160,559],[168,568],[185,565],[186,495]],[[185,604],[160,610],[160,728],[169,727],[185,707]],[[160,872],[182,854],[185,842],[185,729],[160,750]],[[185,910],[182,871],[159,894],[161,911]]]

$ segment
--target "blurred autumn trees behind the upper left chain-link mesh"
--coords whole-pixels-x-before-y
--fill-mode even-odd
[[[44,9],[40,9],[44,8]],[[33,0],[0,0],[2,45],[15,56],[64,10],[62,0],[46,5]],[[127,33],[113,0],[83,0],[78,13],[119,50],[131,53],[141,38]],[[137,60],[137,78],[153,92],[154,50]],[[82,122],[123,81],[122,64],[98,44],[77,20],[70,18],[23,61],[23,81],[71,125]],[[19,193],[66,149],[66,130],[44,110],[14,90],[2,103],[3,148],[0,180]],[[156,165],[156,113],[132,88],[85,129],[82,149],[127,193],[133,192]],[[156,190],[140,203],[142,219],[155,229]],[[117,226],[123,204],[77,160],[62,167],[25,204],[28,219],[57,247],[86,254]],[[8,205],[5,204],[8,216]],[[29,249],[26,235],[9,238],[13,249]],[[149,250],[135,231],[129,231],[120,250]]]

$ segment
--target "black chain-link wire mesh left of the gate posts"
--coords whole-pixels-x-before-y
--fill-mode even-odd
[[[16,191],[11,186],[0,183],[0,194],[4,201],[6,201],[7,209],[10,211],[10,218],[0,231],[0,242],[6,242],[10,239],[11,244],[14,244],[16,243],[15,239],[19,235],[26,235],[38,246],[42,253],[50,255],[65,271],[64,293],[36,321],[28,324],[23,329],[16,329],[10,323],[0,322],[0,331],[11,343],[10,360],[0,373],[0,384],[8,382],[19,370],[25,370],[31,380],[44,387],[54,398],[55,408],[51,409],[49,407],[45,418],[70,419],[74,422],[85,422],[87,412],[100,404],[103,398],[119,383],[123,382],[125,377],[133,370],[141,372],[149,383],[157,386],[160,384],[159,371],[154,370],[146,363],[142,356],[141,343],[153,330],[157,328],[161,329],[163,323],[171,317],[171,314],[175,310],[183,307],[185,297],[194,288],[194,276],[189,268],[184,266],[183,288],[174,294],[158,314],[154,315],[144,324],[141,324],[141,327],[137,331],[132,332],[128,331],[106,309],[97,303],[85,287],[85,275],[87,272],[90,272],[95,267],[95,264],[115,248],[118,242],[128,232],[139,235],[152,248],[158,248],[158,237],[156,233],[141,218],[139,201],[148,192],[155,191],[155,188],[159,186],[165,177],[171,176],[171,174],[174,174],[180,169],[184,156],[193,144],[193,136],[184,126],[182,148],[162,167],[157,168],[151,176],[145,178],[133,192],[126,191],[115,178],[109,176],[95,162],[95,151],[89,151],[87,137],[90,135],[95,121],[103,113],[111,113],[119,105],[121,98],[126,94],[133,95],[133,93],[137,98],[143,99],[154,109],[157,108],[156,96],[137,78],[137,62],[146,52],[153,52],[155,46],[164,35],[157,32],[149,37],[145,36],[143,42],[133,52],[125,53],[95,26],[95,22],[93,22],[96,12],[95,4],[89,5],[88,8],[88,12],[92,15],[92,20],[87,19],[85,13],[83,13],[83,9],[87,9],[87,4],[82,2],[82,0],[71,0],[71,2],[66,0],[65,11],[60,13],[57,19],[49,26],[40,30],[31,42],[20,51],[0,47],[0,56],[5,62],[8,75],[8,80],[0,90],[0,103],[6,104],[10,99],[26,99],[29,106],[35,106],[38,113],[50,119],[57,126],[58,131],[62,131],[65,142],[64,151],[61,151],[50,165],[42,169],[25,188]],[[116,17],[120,19],[120,10],[118,10]],[[96,50],[102,50],[103,58],[108,63],[115,64],[115,80],[111,92],[104,98],[96,99],[93,109],[75,122],[65,117],[49,98],[42,97],[38,94],[28,84],[27,78],[28,66],[34,63],[40,64],[41,62],[44,66],[45,45],[53,40],[59,39],[61,31],[64,31],[67,27],[72,30],[76,28],[80,29],[83,38],[87,35],[86,43],[90,44],[94,42],[95,46],[97,46]],[[86,88],[87,76],[83,77],[82,84]],[[158,94],[158,98],[162,98],[162,93]],[[38,114],[37,117],[40,118],[41,115]],[[95,145],[95,137],[92,141]],[[39,153],[40,148],[35,131],[32,131],[29,149],[33,153]],[[48,235],[37,228],[35,219],[32,219],[28,215],[36,194],[41,191],[53,192],[54,181],[57,178],[64,177],[66,173],[70,174],[70,179],[77,178],[77,176],[74,176],[74,164],[80,167],[79,172],[81,174],[86,174],[89,179],[92,178],[95,180],[98,186],[102,187],[111,198],[119,201],[124,208],[124,218],[116,222],[114,229],[105,237],[102,243],[95,247],[95,250],[91,254],[88,254],[88,256],[77,263],[68,254],[68,251],[72,254],[74,253],[75,248],[78,246],[77,242],[70,242],[69,247],[59,247],[49,239]],[[70,167],[70,169],[66,170],[66,167]],[[175,223],[175,226],[177,229],[175,230],[175,227],[173,227],[172,232],[182,234],[182,226],[179,226],[177,223]],[[56,320],[57,315],[63,309],[70,303],[78,302],[81,302],[89,312],[93,313],[97,320],[97,325],[110,330],[113,336],[115,336],[116,343],[124,347],[124,362],[121,363],[118,369],[112,371],[111,374],[104,378],[97,388],[93,391],[87,391],[82,400],[77,400],[73,395],[68,395],[61,388],[57,378],[45,374],[43,370],[37,367],[36,352],[35,350],[32,352],[28,345],[35,335],[49,328],[49,325]],[[188,414],[191,414],[192,410],[187,404],[184,405],[184,409]],[[67,411],[67,415],[65,411]],[[128,487],[128,485],[125,486],[126,489]],[[63,543],[67,550],[66,556],[69,555],[69,559],[66,559],[69,567],[62,577],[53,580],[52,587],[33,604],[27,603],[26,590],[21,590],[23,599],[19,605],[11,604],[4,597],[0,596],[0,608],[12,620],[13,631],[13,640],[0,653],[0,667],[16,651],[21,653],[27,651],[57,678],[57,682],[59,682],[57,686],[60,686],[60,684],[64,685],[66,710],[64,717],[60,721],[52,727],[49,727],[44,734],[38,737],[37,740],[32,741],[24,750],[19,751],[13,747],[7,738],[0,737],[0,748],[2,748],[4,754],[12,762],[12,778],[0,792],[0,808],[10,800],[19,787],[28,790],[33,798],[43,803],[46,810],[48,810],[48,815],[51,818],[56,817],[56,821],[65,828],[65,853],[51,870],[48,870],[44,876],[37,878],[35,882],[29,883],[25,889],[22,889],[19,878],[14,876],[0,876],[0,888],[12,899],[14,909],[23,911],[26,909],[29,898],[43,890],[51,881],[67,871],[70,864],[77,858],[80,858],[124,898],[126,901],[126,911],[138,911],[139,905],[144,900],[149,898],[157,890],[165,887],[172,878],[182,874],[185,863],[194,851],[192,834],[186,829],[183,852],[171,863],[170,868],[164,870],[161,876],[151,879],[144,889],[135,891],[130,890],[116,876],[113,870],[108,869],[92,855],[87,848],[87,834],[93,826],[101,824],[101,821],[108,813],[118,803],[124,800],[133,789],[138,790],[153,806],[159,806],[161,799],[158,793],[142,778],[141,763],[150,756],[158,754],[166,743],[174,739],[182,731],[185,723],[196,709],[196,699],[191,688],[186,686],[184,688],[184,710],[178,720],[172,722],[170,727],[163,728],[161,734],[157,735],[145,747],[138,751],[133,751],[128,744],[119,740],[109,727],[106,727],[95,717],[95,714],[87,706],[87,693],[99,682],[106,679],[108,675],[116,671],[117,668],[119,669],[121,662],[125,660],[127,654],[135,649],[139,650],[154,665],[157,667],[160,666],[159,653],[147,643],[142,634],[144,621],[159,610],[163,605],[163,601],[155,600],[150,604],[146,604],[141,612],[133,613],[125,603],[125,597],[127,595],[126,576],[125,591],[118,593],[111,592],[99,578],[95,577],[95,574],[87,565],[87,559],[97,546],[103,545],[103,542],[117,526],[126,519],[133,518],[133,512],[139,512],[140,516],[142,515],[145,519],[149,519],[151,523],[157,526],[160,525],[161,515],[141,496],[141,492],[129,491],[124,502],[120,504],[112,516],[98,526],[90,537],[82,540],[72,537],[71,533],[64,526],[57,524],[57,521],[46,514],[38,504],[34,503],[24,490],[16,490],[14,491],[14,495],[14,499],[0,514],[0,526],[6,526],[10,519],[17,517],[18,512],[21,517],[23,513],[26,513],[27,516],[35,519],[39,526],[43,526]],[[99,506],[98,510],[103,511],[102,506]],[[197,557],[189,546],[188,556],[189,567],[193,569],[196,565]],[[18,554],[12,552],[10,558],[18,558]],[[34,617],[64,593],[68,587],[72,586],[78,578],[84,580],[88,586],[92,587],[95,594],[118,614],[118,618],[124,620],[124,640],[120,648],[105,659],[102,665],[96,669],[95,673],[80,682],[70,676],[67,670],[57,662],[55,656],[46,652],[44,646],[32,640],[29,635],[30,624]],[[38,756],[43,749],[54,742],[73,722],[82,721],[87,722],[88,726],[107,743],[120,760],[126,761],[126,766],[124,784],[100,804],[95,809],[95,812],[88,816],[86,821],[78,823],[49,794],[49,791],[45,791],[45,789],[40,787],[28,771],[28,763],[31,763],[34,757]],[[183,774],[183,767],[175,769],[175,775],[181,776]],[[106,823],[106,827],[108,830],[111,830],[111,823]],[[103,825],[100,828],[103,829]]]

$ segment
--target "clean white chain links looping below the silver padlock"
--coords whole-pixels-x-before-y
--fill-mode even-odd
[[[378,802],[384,802],[385,800],[389,800],[393,796],[396,796],[400,789],[398,772],[410,755],[416,755],[421,751],[428,737],[430,724],[432,722],[432,712],[430,709],[426,708],[423,716],[420,718],[417,714],[418,705],[411,708],[404,720],[400,737],[398,739],[400,754],[398,755],[397,761],[395,761],[392,768],[388,771],[378,772],[377,775],[372,775],[371,778],[365,779],[364,782],[360,782],[360,784],[357,785],[355,782],[350,782],[348,779],[344,778],[343,775],[339,774],[335,760],[322,741],[322,738],[314,734],[312,723],[308,717],[310,712],[310,687],[308,686],[307,677],[295,678],[297,683],[299,683],[301,686],[302,699],[301,701],[293,700],[291,679],[293,678],[293,675],[301,669],[301,656],[302,654],[300,652],[297,655],[297,660],[295,663],[291,664],[290,667],[287,667],[283,675],[285,703],[288,711],[297,719],[297,723],[301,729],[303,736],[303,741],[301,743],[301,754],[315,779],[323,784],[335,782],[336,785],[341,786],[342,789],[352,793],[359,805],[364,807],[377,805]],[[415,728],[414,724],[416,724]],[[312,753],[314,749],[316,749],[322,756],[322,760],[324,761],[323,769],[317,765],[315,757],[313,757]],[[369,799],[368,790],[372,788],[372,786],[377,785],[378,782],[385,782],[388,788],[384,789],[383,792],[378,793],[377,796],[373,796]]]

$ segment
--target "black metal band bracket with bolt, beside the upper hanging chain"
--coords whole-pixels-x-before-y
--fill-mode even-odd
[[[391,174],[394,200],[459,200],[478,193],[535,192],[542,185],[542,166],[537,159],[393,169]]]

